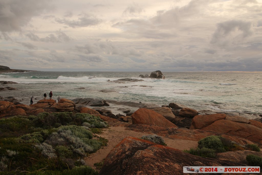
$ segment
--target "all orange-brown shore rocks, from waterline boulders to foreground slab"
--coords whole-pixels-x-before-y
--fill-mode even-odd
[[[112,111],[110,109],[113,108],[109,107],[113,105],[126,108]],[[125,115],[117,114],[119,111]],[[125,127],[127,133],[128,130],[151,133],[174,141],[199,141],[208,136],[221,136],[241,148],[247,144],[262,144],[262,123],[259,115],[196,111],[178,103],[160,107],[155,104],[92,98],[62,98],[59,103],[49,99],[39,100],[32,105],[21,104],[14,99],[0,101],[0,118],[38,115],[43,112],[87,113],[100,117],[109,126]],[[139,155],[139,151],[143,154]],[[159,146],[146,140],[126,137],[104,157],[100,174],[137,174],[140,169],[143,169],[142,174],[183,174],[183,166],[247,166],[248,163],[242,156],[247,154],[262,156],[260,152],[241,149],[218,153],[217,159],[201,158],[168,145]],[[232,156],[236,158],[232,160]],[[166,164],[157,166],[160,162]]]

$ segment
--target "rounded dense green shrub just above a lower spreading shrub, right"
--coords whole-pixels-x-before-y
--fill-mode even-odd
[[[215,150],[215,152],[225,152],[221,136],[208,136],[198,141],[198,147]]]

